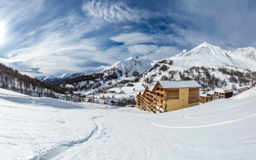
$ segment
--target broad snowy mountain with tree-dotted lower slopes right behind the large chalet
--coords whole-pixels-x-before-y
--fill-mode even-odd
[[[214,88],[250,87],[256,80],[256,50],[252,47],[223,50],[206,42],[190,51],[183,50],[133,80],[135,90],[144,90],[158,80],[196,80],[205,92]],[[124,92],[128,91],[125,88]]]

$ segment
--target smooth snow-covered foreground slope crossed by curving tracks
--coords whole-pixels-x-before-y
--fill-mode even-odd
[[[80,104],[0,95],[0,159],[256,158],[256,88],[161,114]]]

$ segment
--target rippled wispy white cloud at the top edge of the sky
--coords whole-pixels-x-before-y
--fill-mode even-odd
[[[82,10],[86,16],[92,16],[94,18],[103,18],[107,22],[125,22],[136,21],[140,19],[137,11],[128,7],[122,2],[110,2],[100,0],[87,1],[82,6]]]

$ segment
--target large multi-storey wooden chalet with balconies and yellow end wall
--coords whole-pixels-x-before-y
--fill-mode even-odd
[[[147,86],[143,94],[139,92],[136,96],[137,108],[162,113],[196,106],[200,87],[194,80],[158,81],[155,86]]]

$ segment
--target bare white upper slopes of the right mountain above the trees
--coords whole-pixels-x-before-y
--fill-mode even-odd
[[[189,52],[183,51],[166,60],[174,60],[174,65],[182,67],[204,66],[216,68],[233,66],[235,68],[256,70],[255,48],[238,48],[235,51],[227,51],[206,42]]]

